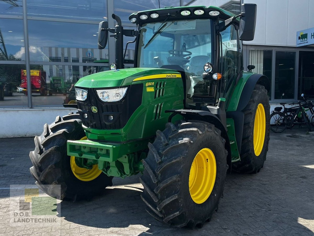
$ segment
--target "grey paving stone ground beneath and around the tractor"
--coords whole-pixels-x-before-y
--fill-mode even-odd
[[[105,195],[61,202],[61,225],[10,227],[9,187],[34,184],[33,138],[0,139],[0,235],[314,235],[314,133],[271,133],[257,174],[227,174],[219,211],[203,228],[176,229],[146,213],[138,176],[114,178]]]

